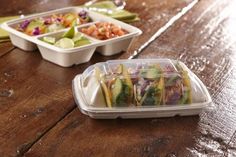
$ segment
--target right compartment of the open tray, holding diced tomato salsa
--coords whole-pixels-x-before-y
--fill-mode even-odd
[[[136,27],[133,27],[131,25],[128,25],[126,23],[114,20],[114,19],[110,19],[110,18],[102,18],[101,21],[95,22],[95,23],[90,23],[87,24],[86,26],[82,26],[80,28],[80,31],[85,33],[85,31],[83,30],[88,30],[92,27],[97,28],[98,32],[100,32],[101,29],[105,28],[99,28],[99,24],[109,24],[114,26],[114,27],[118,27],[120,28],[120,30],[122,30],[123,32],[125,32],[125,34],[121,35],[121,36],[115,36],[115,37],[111,37],[111,38],[106,38],[106,39],[99,39],[99,35],[97,35],[95,37],[95,35],[93,35],[94,33],[87,34],[90,35],[91,37],[97,39],[100,41],[100,45],[96,51],[99,52],[100,54],[104,55],[104,56],[111,56],[111,55],[115,55],[117,53],[120,53],[122,51],[126,51],[129,47],[129,45],[131,44],[132,40],[134,39],[134,37],[142,34],[142,31]],[[107,30],[112,30],[111,28],[107,29]],[[86,31],[88,32],[88,31]],[[103,36],[105,36],[105,33],[110,33],[111,32],[103,32]],[[101,35],[100,35],[101,36]]]

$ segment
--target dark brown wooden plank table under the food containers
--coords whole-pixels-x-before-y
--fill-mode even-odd
[[[0,16],[84,2],[2,0]],[[0,44],[1,157],[236,156],[236,1],[127,0],[126,9],[139,13],[141,21],[133,25],[143,35],[119,55],[95,54],[86,64],[62,68],[38,51]],[[129,58],[139,48],[136,58],[186,63],[208,87],[215,108],[199,116],[156,119],[83,115],[71,92],[74,76],[96,62]]]

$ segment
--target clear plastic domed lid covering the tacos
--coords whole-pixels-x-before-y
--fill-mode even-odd
[[[192,105],[210,97],[182,62],[169,59],[97,63],[83,72],[79,85],[83,103],[96,108]]]

